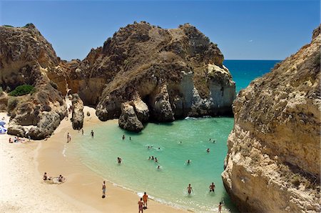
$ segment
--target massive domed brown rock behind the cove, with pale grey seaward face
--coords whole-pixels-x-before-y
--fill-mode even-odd
[[[149,120],[171,122],[229,114],[235,98],[220,49],[190,24],[129,24],[92,49],[68,84],[85,104],[97,105],[103,121],[120,117],[121,104],[136,99],[148,106]]]

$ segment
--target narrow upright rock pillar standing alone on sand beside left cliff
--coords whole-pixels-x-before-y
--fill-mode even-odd
[[[71,99],[72,104],[72,117],[71,122],[73,129],[83,128],[83,101],[79,98],[78,94],[73,94]]]

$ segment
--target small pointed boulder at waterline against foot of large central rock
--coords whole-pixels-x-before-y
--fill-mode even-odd
[[[138,119],[134,106],[130,103],[121,104],[121,117],[118,119],[119,127],[131,132],[141,132],[144,128]]]

